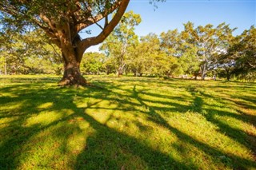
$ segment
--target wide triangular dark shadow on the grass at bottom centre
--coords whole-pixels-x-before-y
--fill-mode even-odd
[[[146,146],[133,136],[102,125],[89,114],[82,113],[80,116],[88,121],[97,133],[87,138],[86,148],[77,158],[76,169],[138,169],[144,166],[152,169],[191,168]],[[142,164],[142,167],[138,164]]]

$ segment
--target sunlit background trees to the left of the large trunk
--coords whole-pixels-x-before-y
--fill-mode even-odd
[[[42,31],[13,34],[2,45],[0,59],[5,61],[5,73],[61,73],[60,51]]]

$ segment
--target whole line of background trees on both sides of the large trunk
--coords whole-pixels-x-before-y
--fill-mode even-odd
[[[184,24],[182,31],[162,34],[135,34],[141,22],[132,11],[123,15],[118,26],[100,46],[102,53],[84,53],[80,64],[83,74],[133,74],[157,77],[256,78],[256,29],[251,26],[234,36],[235,28]],[[10,36],[11,35],[11,36]],[[40,30],[25,34],[5,34],[0,42],[0,73],[63,72],[58,47]],[[8,40],[8,41],[6,41]]]

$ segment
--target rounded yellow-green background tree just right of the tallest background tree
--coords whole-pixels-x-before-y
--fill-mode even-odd
[[[147,73],[162,77],[173,75],[177,71],[177,58],[166,53],[161,46],[157,34],[148,34],[141,38],[132,55],[133,62],[130,64],[134,75]]]

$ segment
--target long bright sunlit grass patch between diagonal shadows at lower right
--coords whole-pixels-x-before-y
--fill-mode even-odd
[[[178,124],[176,123],[177,121]],[[239,156],[253,161],[250,156],[250,149],[246,148],[246,146],[240,144],[238,141],[233,140],[230,136],[225,134],[225,132],[220,132],[218,125],[207,121],[201,114],[184,113],[182,117],[178,117],[178,120],[171,120],[170,124],[180,129],[185,134],[190,134],[191,138],[203,144],[209,144],[211,147],[218,148],[226,154],[239,153]]]

